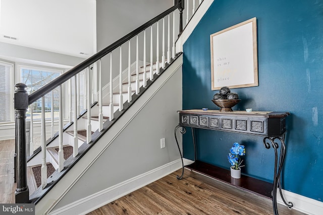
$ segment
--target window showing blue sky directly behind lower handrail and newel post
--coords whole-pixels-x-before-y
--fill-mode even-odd
[[[20,72],[20,82],[27,85],[27,93],[30,95],[35,92],[45,84],[49,83],[53,79],[59,77],[62,70],[48,69],[48,68],[38,68],[32,66],[19,66]],[[53,96],[53,103],[51,97]],[[45,95],[45,118],[51,118],[51,108],[54,110],[54,118],[59,117],[59,97],[60,91],[59,87],[53,90],[53,94],[50,92]],[[41,98],[32,104],[33,120],[41,119]],[[30,110],[29,106],[26,113],[26,120],[30,120]]]

